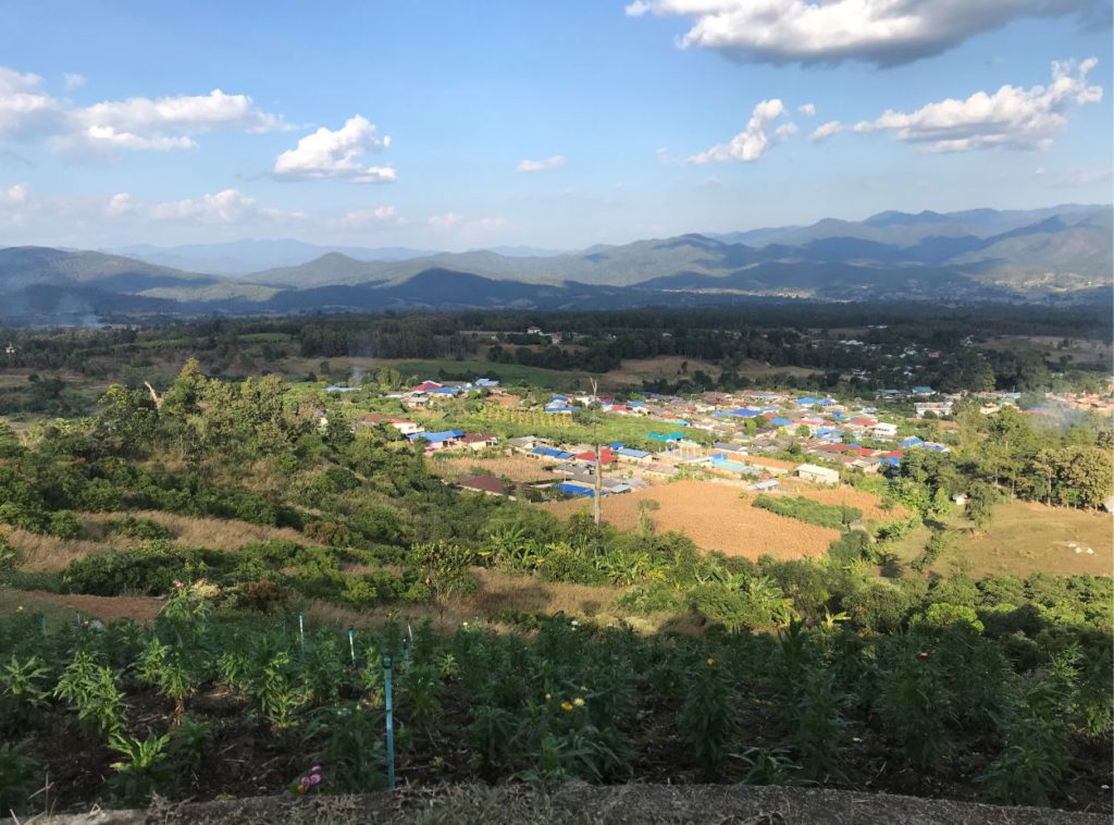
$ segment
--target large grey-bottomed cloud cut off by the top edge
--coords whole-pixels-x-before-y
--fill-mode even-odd
[[[682,48],[772,64],[860,60],[895,66],[938,55],[1019,18],[1086,16],[1100,0],[635,0],[692,20]]]

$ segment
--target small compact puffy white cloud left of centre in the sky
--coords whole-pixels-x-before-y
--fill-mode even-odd
[[[365,166],[363,155],[381,152],[391,145],[391,138],[375,136],[375,125],[356,115],[350,117],[335,132],[322,126],[297,142],[275,159],[276,177],[305,181],[336,177],[353,183],[391,183],[397,173],[392,166]]]

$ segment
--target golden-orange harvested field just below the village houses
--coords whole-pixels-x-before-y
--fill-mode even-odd
[[[694,481],[604,498],[604,520],[622,530],[632,530],[638,523],[638,503],[644,499],[654,499],[661,505],[651,516],[658,531],[684,533],[701,549],[729,555],[747,559],[820,555],[839,536],[839,531],[754,507],[740,498],[737,487]],[[590,507],[590,503],[573,501],[541,506],[567,518]]]

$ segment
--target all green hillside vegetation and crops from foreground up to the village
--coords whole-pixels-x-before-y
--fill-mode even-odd
[[[779,561],[704,553],[648,508],[620,531],[455,489],[390,426],[353,430],[360,412],[401,411],[382,397],[401,380],[383,370],[342,402],[190,361],[162,395],[114,385],[95,417],[0,425],[0,805],[41,811],[47,775],[60,808],[381,787],[389,656],[408,783],[807,784],[1110,809],[1111,580],[929,575],[957,552],[956,494],[965,542],[1004,499],[1108,495],[1106,423],[960,409],[951,453],[849,476],[889,507],[866,528],[857,507],[755,497],[763,517],[838,535]],[[538,426],[452,404],[446,421]],[[615,426],[638,444],[659,425]],[[32,557],[38,540],[66,552]],[[495,578],[578,600],[478,610]],[[141,625],[43,622],[35,605],[68,594],[165,602]]]

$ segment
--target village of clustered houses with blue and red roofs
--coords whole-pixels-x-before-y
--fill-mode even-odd
[[[359,388],[331,386],[326,391],[346,396]],[[949,452],[947,441],[957,427],[949,419],[966,397],[915,387],[880,390],[871,402],[759,390],[691,398],[644,392],[619,399],[604,392],[512,392],[489,378],[427,379],[409,390],[383,394],[382,400],[397,402],[405,414],[360,414],[352,426],[390,427],[423,445],[434,469],[453,467],[446,477],[457,486],[527,502],[618,496],[677,479],[795,493],[838,487],[850,475],[885,473],[910,450]],[[1016,407],[1020,396],[980,392],[973,398],[983,415],[994,415]],[[1108,401],[1049,394],[1048,407],[1023,411],[1048,415]],[[463,411],[466,402],[471,411]],[[488,426],[456,426],[458,415],[461,423],[479,417]],[[608,439],[615,429],[610,425],[620,421],[643,426],[637,436]],[[534,431],[512,434],[529,430],[530,423],[537,424]],[[587,429],[592,437],[554,437],[553,430],[561,428],[580,436]],[[961,505],[961,498],[956,503]]]

